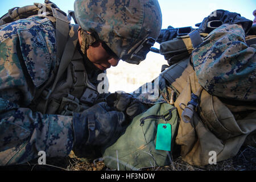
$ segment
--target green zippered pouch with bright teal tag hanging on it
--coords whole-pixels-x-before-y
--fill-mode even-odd
[[[171,146],[172,151],[179,125],[177,109],[167,103],[155,104],[144,113],[137,115],[125,133],[112,146],[106,148],[103,152],[105,166],[123,171],[169,165],[171,151],[156,150],[156,135],[161,132],[158,131],[159,124],[171,125],[171,130],[168,130],[171,134],[162,133],[162,136],[164,134],[171,137],[171,143],[167,143],[169,147],[166,147]]]

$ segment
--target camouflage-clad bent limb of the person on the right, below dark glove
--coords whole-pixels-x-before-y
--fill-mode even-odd
[[[192,52],[200,84],[209,94],[241,101],[256,100],[256,46],[247,46],[237,24],[210,32]]]

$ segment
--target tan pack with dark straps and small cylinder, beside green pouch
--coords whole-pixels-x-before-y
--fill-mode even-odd
[[[204,38],[207,34],[200,35]],[[245,39],[254,47],[255,40],[255,34]],[[218,98],[203,89],[189,64],[191,52],[197,47],[192,42],[190,36],[179,36],[160,44],[159,52],[170,65],[160,75],[176,91],[180,124],[175,142],[181,146],[181,157],[191,165],[204,166],[210,163],[212,152],[216,162],[232,158],[248,142],[247,137],[254,137],[248,143],[255,146],[256,108]]]

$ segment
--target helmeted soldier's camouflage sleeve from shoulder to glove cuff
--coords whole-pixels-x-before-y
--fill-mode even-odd
[[[24,163],[45,151],[67,156],[73,146],[72,117],[28,109],[56,64],[55,28],[35,16],[0,30],[0,165]],[[24,61],[23,61],[24,60]]]

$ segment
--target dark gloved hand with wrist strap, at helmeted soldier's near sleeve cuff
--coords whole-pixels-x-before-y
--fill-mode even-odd
[[[121,134],[125,115],[100,102],[82,113],[73,113],[74,147],[104,146]]]

